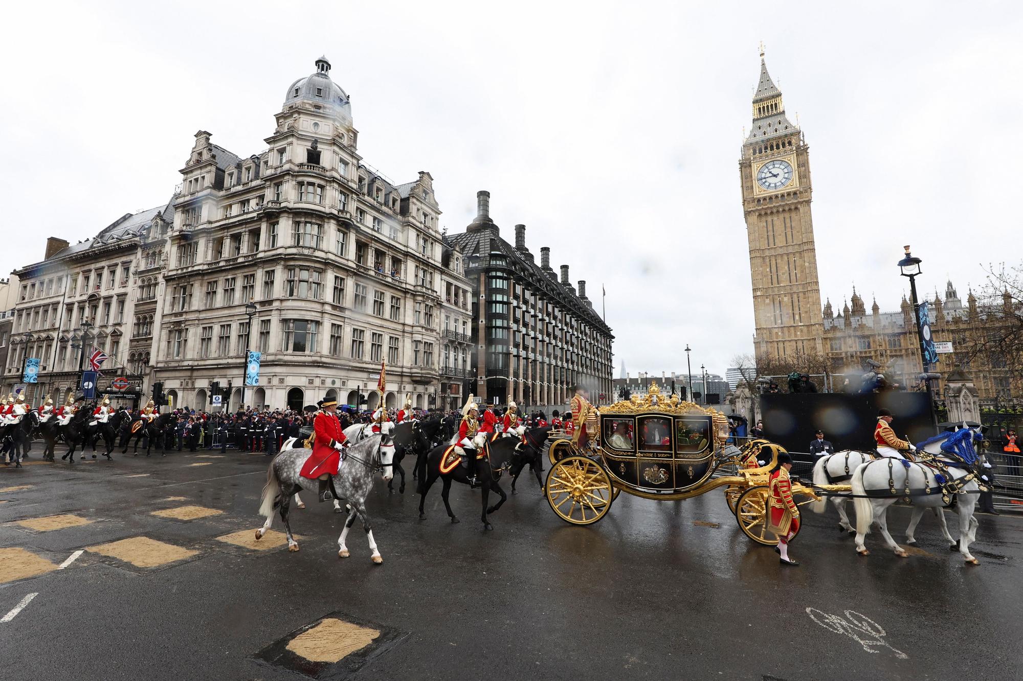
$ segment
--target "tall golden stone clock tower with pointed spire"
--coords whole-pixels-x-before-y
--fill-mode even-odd
[[[757,357],[822,355],[820,285],[810,215],[809,147],[789,121],[760,51],[753,127],[739,162],[750,244]]]

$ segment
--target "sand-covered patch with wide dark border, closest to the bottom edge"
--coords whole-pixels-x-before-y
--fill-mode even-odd
[[[296,629],[256,653],[256,659],[315,679],[343,679],[404,637],[391,627],[341,612]]]

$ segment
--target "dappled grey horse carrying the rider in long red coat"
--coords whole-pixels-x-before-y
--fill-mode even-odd
[[[256,531],[256,539],[262,539],[266,531],[270,529],[273,513],[279,508],[280,519],[284,523],[284,531],[287,535],[287,550],[299,550],[299,543],[292,536],[288,510],[293,494],[297,494],[302,489],[313,490],[316,486],[315,480],[309,480],[300,474],[302,465],[311,453],[312,450],[305,448],[288,449],[273,457],[273,461],[270,462],[270,467],[266,471],[266,485],[263,486],[263,499],[259,509],[260,514],[266,517],[266,523]],[[345,538],[358,516],[362,518],[362,528],[369,539],[369,549],[372,551],[373,562],[377,564],[384,562],[384,558],[376,548],[376,542],[373,541],[373,532],[369,525],[365,502],[369,490],[372,489],[373,476],[376,471],[383,473],[385,481],[390,481],[394,476],[393,467],[394,443],[390,435],[369,436],[342,452],[342,462],[338,467],[338,473],[329,475],[327,480],[335,498],[345,499],[348,502],[348,521],[345,523],[345,529],[342,530],[341,537],[338,538],[338,555],[342,558],[347,558],[350,555],[348,547],[345,545]]]

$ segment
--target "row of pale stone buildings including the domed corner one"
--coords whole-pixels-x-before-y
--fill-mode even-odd
[[[288,86],[260,152],[242,157],[199,131],[170,203],[89,241],[53,242],[16,272],[4,385],[27,356],[43,360],[40,380],[77,385],[70,346],[85,320],[115,358],[104,371],[139,374],[145,394],[160,380],[175,406],[209,407],[214,381],[231,385],[225,407],[242,404],[248,349],[262,366],[244,404],[362,394],[372,408],[382,363],[388,406],[405,394],[442,406],[442,376],[459,402],[450,379],[468,371],[471,285],[438,231],[433,178],[395,184],[362,161],[329,72],[317,59]]]

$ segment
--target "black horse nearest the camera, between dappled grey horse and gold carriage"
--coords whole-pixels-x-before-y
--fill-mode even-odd
[[[493,440],[493,442],[490,442]],[[503,473],[511,463],[511,456],[515,454],[515,446],[517,440],[515,438],[501,438],[493,437],[488,438],[488,443],[485,448],[485,456],[476,462],[476,474],[477,480],[482,483],[481,489],[483,491],[483,513],[481,518],[483,520],[484,530],[493,530],[494,527],[490,525],[490,520],[487,519],[487,513],[493,513],[501,504],[507,499],[507,495],[504,494],[504,490],[500,486],[501,473]],[[448,516],[451,518],[451,523],[458,523],[458,518],[455,517],[454,511],[451,510],[451,504],[448,502],[448,493],[451,491],[451,481],[456,481],[462,483],[463,485],[469,485],[469,469],[461,465],[461,462],[455,464],[448,472],[441,472],[441,462],[445,459],[445,452],[451,445],[440,445],[434,447],[430,450],[430,453],[426,456],[419,457],[418,464],[416,468],[418,470],[419,478],[419,488],[417,490],[419,494],[419,519],[427,517],[424,511],[424,504],[427,501],[427,493],[433,486],[437,479],[440,478],[444,482],[444,489],[441,491],[441,498],[444,499],[444,506],[447,508]],[[494,491],[501,496],[500,501],[498,501],[493,506],[488,507],[487,501],[490,498],[490,492]]]

